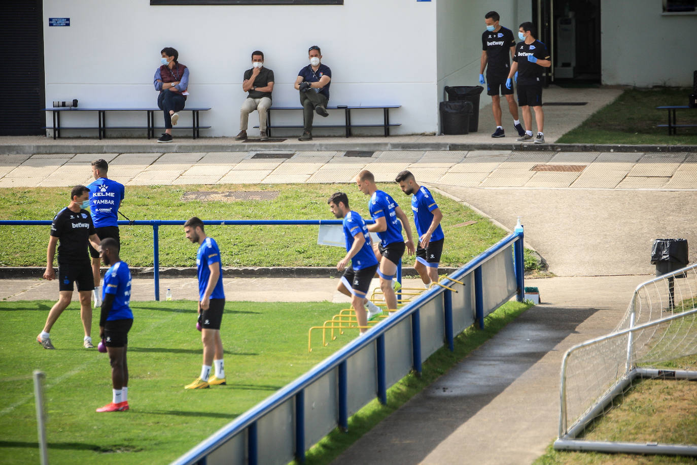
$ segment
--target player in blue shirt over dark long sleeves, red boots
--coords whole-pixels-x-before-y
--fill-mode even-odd
[[[104,274],[102,313],[99,319],[99,335],[107,346],[112,365],[112,402],[97,409],[98,412],[128,410],[128,331],[133,324],[130,303],[130,270],[118,257],[118,242],[114,238],[102,241],[102,261],[109,266]]]

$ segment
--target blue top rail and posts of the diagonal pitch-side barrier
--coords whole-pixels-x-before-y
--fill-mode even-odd
[[[505,250],[506,247],[513,244],[513,260],[514,270],[516,273],[516,288],[520,286],[519,289],[516,289],[516,298],[519,301],[523,301],[522,286],[524,268],[522,259],[522,243],[523,231],[516,231],[513,234],[510,234],[510,236],[503,238],[495,245],[489,247],[489,249],[484,251],[479,256],[475,257],[475,259],[470,261],[468,264],[452,273],[450,277],[459,280],[462,277],[473,272],[478,273],[481,277],[482,264],[489,261],[489,259],[495,257],[498,253]],[[520,248],[520,253],[517,253],[518,247]],[[385,333],[387,333],[391,328],[394,328],[395,326],[399,325],[399,323],[401,323],[401,321],[404,321],[404,319],[411,318],[413,340],[413,370],[415,372],[421,372],[421,351],[420,349],[416,349],[417,347],[420,348],[419,309],[425,303],[428,303],[430,300],[436,298],[436,296],[440,296],[443,293],[448,295],[450,294],[450,292],[450,290],[444,287],[432,287],[431,289],[424,291],[424,294],[413,300],[411,303],[408,303],[407,305],[402,307],[393,317],[386,319],[385,321],[381,322],[379,326],[375,326],[374,328],[372,328],[372,330],[366,333],[365,336],[348,342],[346,346],[344,346],[342,349],[339,349],[328,359],[324,360],[322,363],[319,363],[319,365],[316,365],[316,367],[311,369],[306,374],[300,376],[300,378],[296,379],[296,381],[293,381],[288,385],[284,386],[283,388],[275,392],[273,395],[268,397],[268,399],[264,400],[260,404],[257,404],[252,409],[246,411],[238,418],[236,418],[236,420],[233,420],[233,422],[229,423],[229,425],[222,427],[222,429],[215,432],[212,436],[208,437],[208,439],[202,441],[201,443],[199,443],[199,445],[195,446],[172,463],[176,465],[205,463],[206,457],[210,455],[211,452],[219,448],[220,445],[222,445],[222,443],[225,443],[226,441],[232,439],[234,436],[237,436],[238,434],[243,434],[246,429],[247,463],[250,465],[256,465],[256,451],[258,440],[256,436],[256,422],[260,420],[263,416],[266,416],[268,413],[273,411],[278,406],[284,404],[284,402],[287,402],[289,399],[292,399],[293,397],[295,397],[296,402],[296,413],[300,412],[300,419],[296,418],[296,421],[294,422],[294,427],[296,428],[295,455],[296,459],[298,459],[299,462],[302,462],[305,457],[305,445],[300,441],[300,439],[303,439],[303,441],[305,439],[305,421],[304,418],[302,418],[303,414],[302,409],[300,409],[300,407],[303,406],[305,402],[305,389],[308,386],[310,386],[314,381],[320,379],[325,374],[328,374],[328,372],[337,369],[337,425],[344,430],[348,429],[348,376],[346,369],[347,360],[351,358],[351,356],[361,351],[362,349],[365,349],[365,347],[369,344],[372,344],[373,341],[376,341],[376,369],[378,372],[378,392],[376,394],[380,402],[385,404],[387,402],[386,392],[388,388],[388,386],[385,385]],[[478,290],[475,289],[475,294],[477,302],[482,303],[483,299],[481,295],[481,284]],[[445,310],[447,314],[447,305],[445,305]],[[452,307],[450,310],[452,311]],[[484,318],[483,310],[481,310],[481,305],[479,305],[479,307],[477,308],[477,319],[480,319],[480,328],[483,328]],[[447,321],[448,318],[446,317],[446,328],[448,326]],[[454,337],[452,329],[452,316],[450,317],[450,328],[446,329],[445,336],[449,349],[451,351],[454,350],[452,342]]]

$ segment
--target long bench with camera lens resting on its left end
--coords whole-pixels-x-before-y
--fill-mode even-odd
[[[182,112],[192,112],[192,125],[190,126],[176,126],[174,129],[190,129],[192,130],[192,137],[196,139],[200,137],[201,129],[210,129],[210,126],[201,126],[199,121],[199,112],[206,112],[210,109],[204,107],[187,107],[182,110]],[[159,108],[81,108],[81,107],[49,107],[44,108],[43,112],[53,113],[53,125],[52,126],[42,126],[42,129],[52,129],[53,138],[56,139],[61,137],[61,129],[96,129],[98,131],[99,138],[107,137],[107,112],[146,112],[147,123],[144,126],[138,125],[126,125],[126,126],[111,126],[109,129],[146,129],[148,131],[148,139],[155,137],[155,130],[164,129],[161,127],[155,127],[155,112],[162,112]],[[61,113],[63,112],[97,112],[97,125],[96,126],[61,126]]]

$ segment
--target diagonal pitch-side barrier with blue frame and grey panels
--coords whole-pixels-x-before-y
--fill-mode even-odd
[[[489,247],[448,278],[229,422],[173,464],[288,464],[454,336],[516,296],[523,301],[523,231]],[[454,281],[454,280],[457,280]],[[401,280],[400,280],[401,281]],[[461,283],[461,284],[460,284]],[[337,329],[340,330],[340,329]],[[389,362],[389,363],[388,363]]]

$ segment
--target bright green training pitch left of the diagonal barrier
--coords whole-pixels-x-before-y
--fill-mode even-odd
[[[307,352],[307,329],[345,307],[332,303],[228,303],[223,319],[227,386],[184,390],[201,370],[194,302],[133,303],[128,412],[95,413],[111,402],[107,354],[82,348],[72,303],[51,331],[36,335],[52,302],[0,302],[0,462],[39,462],[33,369],[46,374],[51,464],[165,464],[346,344],[348,330]],[[95,327],[95,325],[94,325]]]

